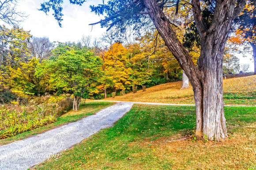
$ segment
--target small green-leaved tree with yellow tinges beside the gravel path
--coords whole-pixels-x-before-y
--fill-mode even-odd
[[[56,87],[73,93],[73,110],[79,109],[81,98],[87,88],[98,81],[101,59],[76,44],[59,43],[49,60],[37,69],[37,76],[50,74]]]

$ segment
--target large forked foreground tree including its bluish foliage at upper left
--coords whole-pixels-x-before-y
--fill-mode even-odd
[[[72,0],[72,2],[81,1]],[[175,2],[179,5],[180,1]],[[163,12],[164,8],[175,5],[173,1],[110,0],[106,4],[91,6],[96,14],[107,15],[104,20],[91,25],[101,23],[102,26],[109,28],[116,26],[121,29],[125,29],[126,25],[133,25],[134,30],[139,30],[141,26],[148,25],[148,18],[151,18],[193,87],[196,102],[196,135],[207,136],[209,140],[222,141],[228,136],[222,90],[224,47],[233,20],[245,7],[246,0],[209,0],[206,3],[206,7],[213,12],[210,25],[206,25],[203,21],[200,0],[191,1],[196,28],[201,38],[198,66],[194,64],[188,50],[178,40],[169,19]],[[47,12],[47,8],[45,11]]]

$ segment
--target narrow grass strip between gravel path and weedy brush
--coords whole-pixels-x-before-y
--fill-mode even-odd
[[[40,134],[44,131],[53,129],[55,127],[61,126],[63,124],[69,123],[69,122],[75,122],[79,119],[82,119],[85,116],[92,115],[101,109],[109,107],[110,105],[113,105],[113,102],[86,101],[80,105],[79,112],[69,111],[66,114],[60,116],[55,123],[52,123],[52,124],[49,124],[49,125],[46,125],[44,127],[40,127],[40,128],[34,129],[34,130],[30,130],[30,131],[27,131],[22,134],[18,134],[13,137],[9,137],[9,138],[0,140],[0,145],[5,145],[5,144],[11,143],[13,141],[19,141],[26,137],[30,137],[35,134]]]

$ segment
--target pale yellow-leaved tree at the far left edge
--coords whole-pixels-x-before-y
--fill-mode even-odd
[[[29,62],[27,43],[31,35],[29,31],[13,27],[0,26],[0,81],[11,86],[11,72],[17,72],[23,63]]]

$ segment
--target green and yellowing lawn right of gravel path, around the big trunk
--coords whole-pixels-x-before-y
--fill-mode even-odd
[[[256,108],[225,107],[225,113],[226,141],[173,141],[193,134],[194,106],[134,105],[113,127],[34,168],[256,169]]]

